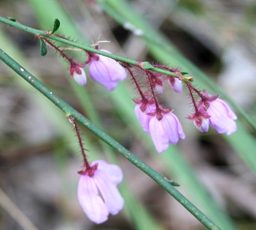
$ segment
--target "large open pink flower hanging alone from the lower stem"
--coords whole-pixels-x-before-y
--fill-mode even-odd
[[[117,184],[122,182],[122,169],[103,160],[91,163],[90,169],[79,171],[78,198],[88,218],[103,223],[110,214],[117,214],[124,206]]]

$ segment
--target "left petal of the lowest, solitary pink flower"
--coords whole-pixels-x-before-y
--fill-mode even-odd
[[[83,211],[92,222],[100,224],[108,219],[109,211],[98,195],[94,178],[88,175],[81,176],[77,195]]]

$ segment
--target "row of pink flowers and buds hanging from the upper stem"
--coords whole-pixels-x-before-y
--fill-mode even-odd
[[[107,50],[102,50],[109,52]],[[136,85],[140,99],[134,99],[137,103],[135,114],[141,122],[143,130],[152,136],[156,150],[160,153],[167,150],[169,143],[177,144],[178,140],[184,139],[185,134],[177,116],[172,109],[163,109],[158,102],[157,94],[165,91],[164,80],[173,88],[176,93],[182,92],[182,84],[188,88],[190,99],[193,102],[194,113],[187,118],[194,120],[195,127],[201,132],[207,132],[211,125],[218,133],[230,135],[236,131],[236,114],[234,114],[225,101],[218,99],[217,95],[209,95],[206,91],[201,93],[191,83],[183,82],[184,76],[180,69],[169,68],[164,65],[153,65],[160,69],[171,71],[178,76],[162,76],[160,73],[145,70],[141,66],[127,65],[102,56],[87,52],[88,60],[85,64],[72,62],[70,64],[70,76],[82,86],[86,83],[86,76],[83,67],[89,65],[89,74],[93,80],[102,84],[108,91],[113,91],[117,82],[126,78],[127,73]],[[140,84],[137,82],[131,67],[141,71],[147,80],[145,93],[142,92]],[[196,94],[196,95],[195,95]]]

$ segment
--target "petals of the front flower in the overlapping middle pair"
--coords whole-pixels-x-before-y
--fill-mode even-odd
[[[172,112],[162,114],[161,120],[158,120],[157,116],[153,116],[149,125],[150,135],[159,153],[167,150],[169,142],[177,144],[179,138],[185,138],[182,125]]]

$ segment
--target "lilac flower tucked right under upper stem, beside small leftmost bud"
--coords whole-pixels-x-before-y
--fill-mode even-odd
[[[91,54],[89,73],[93,80],[102,84],[108,91],[113,91],[117,82],[124,80],[127,76],[126,70],[117,61],[99,54]]]

